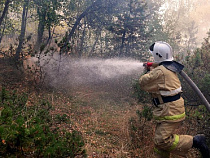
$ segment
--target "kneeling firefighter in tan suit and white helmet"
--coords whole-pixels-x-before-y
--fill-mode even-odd
[[[150,46],[154,64],[148,73],[139,79],[143,90],[149,92],[154,103],[153,115],[156,120],[154,136],[155,155],[158,158],[169,158],[170,153],[185,156],[192,147],[200,150],[203,158],[210,158],[204,135],[177,135],[178,129],[185,119],[184,100],[181,97],[182,87],[173,67],[171,46],[162,41]]]

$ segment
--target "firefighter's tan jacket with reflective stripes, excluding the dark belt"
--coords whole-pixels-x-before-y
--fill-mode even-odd
[[[181,83],[175,72],[158,65],[139,79],[142,90],[158,98],[161,104],[154,106],[153,115],[158,122],[179,122],[185,119],[184,100],[163,103],[162,96],[174,96],[182,92]]]

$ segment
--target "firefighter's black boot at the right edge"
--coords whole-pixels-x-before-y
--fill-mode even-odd
[[[199,149],[203,158],[210,158],[209,148],[206,144],[206,138],[203,134],[193,137],[192,147]]]

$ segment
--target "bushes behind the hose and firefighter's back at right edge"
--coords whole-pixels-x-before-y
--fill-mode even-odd
[[[187,57],[185,71],[195,84],[200,88],[206,99],[210,101],[210,34],[205,38],[201,48],[195,50],[192,55]],[[180,78],[182,80],[182,78]],[[196,105],[196,107],[186,106],[188,112],[187,121],[189,122],[189,133],[194,128],[196,133],[204,133],[206,137],[210,136],[209,123],[210,115],[197,94],[192,88],[182,80],[183,97],[186,105]],[[189,110],[190,109],[190,110]],[[193,126],[193,127],[191,127]],[[196,128],[195,128],[196,127]],[[191,133],[190,133],[191,134]],[[194,134],[194,133],[193,133]],[[210,144],[210,140],[207,140]]]

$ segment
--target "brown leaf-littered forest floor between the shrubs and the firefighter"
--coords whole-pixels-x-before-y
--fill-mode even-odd
[[[135,101],[124,99],[116,102],[104,97],[106,94],[103,91],[94,92],[85,87],[71,94],[52,90],[37,91],[27,75],[1,58],[0,83],[0,90],[4,86],[20,93],[28,93],[31,103],[34,99],[47,98],[55,109],[52,114],[70,116],[72,128],[80,131],[84,137],[89,158],[154,157],[153,121],[140,125],[142,128],[140,133],[132,129],[132,123],[139,125],[136,111],[142,110],[142,105]],[[180,129],[180,131],[185,130],[184,127]],[[189,158],[196,158],[192,153]]]

